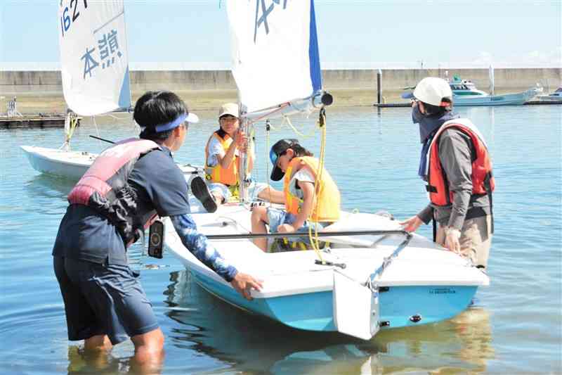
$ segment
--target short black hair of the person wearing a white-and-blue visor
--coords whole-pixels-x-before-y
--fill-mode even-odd
[[[174,129],[156,132],[156,125],[172,122],[182,113],[188,113],[188,108],[173,92],[148,91],[136,101],[133,119],[144,127],[140,134],[142,139],[164,140]]]

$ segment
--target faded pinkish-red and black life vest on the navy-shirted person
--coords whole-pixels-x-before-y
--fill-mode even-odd
[[[158,144],[146,139],[126,139],[107,148],[70,191],[68,202],[87,205],[107,217],[130,246],[141,236],[141,228],[148,228],[158,216],[155,210],[138,210],[127,180],[138,158],[156,148]]]

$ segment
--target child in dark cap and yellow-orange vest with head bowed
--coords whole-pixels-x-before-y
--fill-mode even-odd
[[[271,232],[308,232],[308,229],[322,229],[339,219],[340,196],[334,180],[327,170],[322,169],[320,179],[318,159],[299,144],[297,139],[281,139],[269,153],[273,172],[271,179],[283,177],[285,210],[255,207],[251,212],[251,231],[254,234]],[[317,201],[318,200],[318,201]],[[298,241],[308,242],[308,236]],[[255,239],[261,250],[267,250],[267,239]]]

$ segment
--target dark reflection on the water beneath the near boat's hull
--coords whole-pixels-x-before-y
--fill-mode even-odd
[[[481,307],[439,324],[381,331],[371,341],[291,329],[223,303],[172,272],[166,315],[178,349],[195,350],[230,370],[272,374],[379,374],[389,371],[484,372],[495,356],[490,317]],[[296,306],[295,308],[299,308]]]

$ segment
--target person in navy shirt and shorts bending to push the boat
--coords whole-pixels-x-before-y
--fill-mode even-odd
[[[245,298],[261,289],[261,281],[221,258],[190,215],[187,184],[171,153],[197,116],[176,94],[148,91],[133,117],[143,128],[141,139],[104,151],[70,193],[53,265],[69,340],[103,352],[130,337],[136,362],[151,368],[162,360],[164,336],[138,273],[129,268],[126,247],[155,215],[170,217],[184,246]]]

